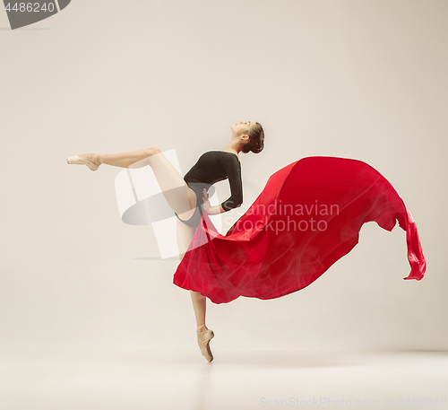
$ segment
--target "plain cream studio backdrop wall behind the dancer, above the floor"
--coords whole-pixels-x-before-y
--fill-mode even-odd
[[[0,13],[0,348],[197,350],[190,294],[149,226],[121,222],[122,169],[76,153],[175,149],[185,173],[260,122],[241,154],[246,211],[269,176],[311,155],[366,161],[414,216],[366,224],[306,289],[207,308],[219,350],[445,350],[448,3],[444,0],[73,0],[23,29]],[[220,182],[222,198],[227,182]]]

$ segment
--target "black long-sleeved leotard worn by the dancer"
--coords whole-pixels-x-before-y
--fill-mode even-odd
[[[228,179],[230,183],[231,195],[222,204],[225,211],[237,208],[243,203],[243,183],[241,180],[241,162],[238,160],[236,153],[227,153],[224,151],[209,151],[202,153],[199,160],[194,164],[184,177],[189,188],[194,190],[196,194],[196,209],[193,216],[184,221],[188,226],[197,228],[201,221],[202,214],[202,189],[207,191],[211,185],[221,180]]]

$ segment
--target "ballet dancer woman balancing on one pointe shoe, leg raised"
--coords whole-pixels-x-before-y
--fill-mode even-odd
[[[67,158],[67,162],[87,165],[90,170],[98,170],[101,164],[122,168],[141,168],[150,165],[168,205],[177,215],[177,246],[182,261],[201,221],[202,209],[207,214],[213,215],[228,212],[242,204],[243,188],[238,154],[261,153],[263,147],[263,126],[254,121],[239,121],[231,126],[228,145],[223,150],[202,154],[184,178],[156,147],[128,153],[83,153]],[[211,206],[208,189],[224,179],[228,179],[231,196],[222,204]],[[202,355],[211,362],[213,355],[210,341],[214,334],[205,325],[206,297],[200,292],[190,291],[190,294],[196,318],[198,345]]]

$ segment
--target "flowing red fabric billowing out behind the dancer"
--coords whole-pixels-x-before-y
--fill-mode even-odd
[[[417,226],[391,183],[363,161],[307,157],[272,174],[225,236],[202,212],[173,283],[214,303],[279,298],[347,255],[364,223],[392,231],[396,220],[408,243],[411,271],[404,279],[419,281],[426,260]]]

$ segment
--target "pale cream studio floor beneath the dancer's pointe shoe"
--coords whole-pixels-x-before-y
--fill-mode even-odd
[[[3,410],[448,409],[448,352],[0,351]]]

